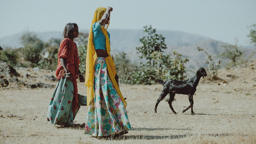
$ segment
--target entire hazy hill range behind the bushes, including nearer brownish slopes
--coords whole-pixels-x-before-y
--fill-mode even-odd
[[[126,52],[132,61],[138,62],[139,54],[136,53],[136,47],[141,46],[140,38],[142,38],[142,29],[109,29],[110,33],[110,44],[111,52]],[[82,30],[81,32],[88,32],[88,30]],[[200,36],[196,34],[171,31],[171,30],[156,30],[157,34],[162,34],[165,37],[165,43],[167,44],[167,50],[165,52],[172,52],[177,50],[179,53],[188,57],[189,62],[186,64],[188,69],[188,76],[194,75],[198,67],[205,67],[206,56],[203,52],[198,52],[196,45],[207,49],[207,51],[212,54],[213,57],[217,56],[221,52],[221,45],[227,45],[228,43],[216,41],[209,37]],[[18,33],[11,36],[6,36],[0,38],[0,45],[11,46],[12,48],[22,47],[20,44],[20,37],[23,33]],[[48,41],[50,38],[61,38],[62,31],[51,31],[51,32],[35,32],[43,41]],[[244,48],[244,58],[252,56],[250,59],[255,59],[255,47]],[[224,60],[224,63],[228,60]],[[198,64],[197,64],[198,63]]]

